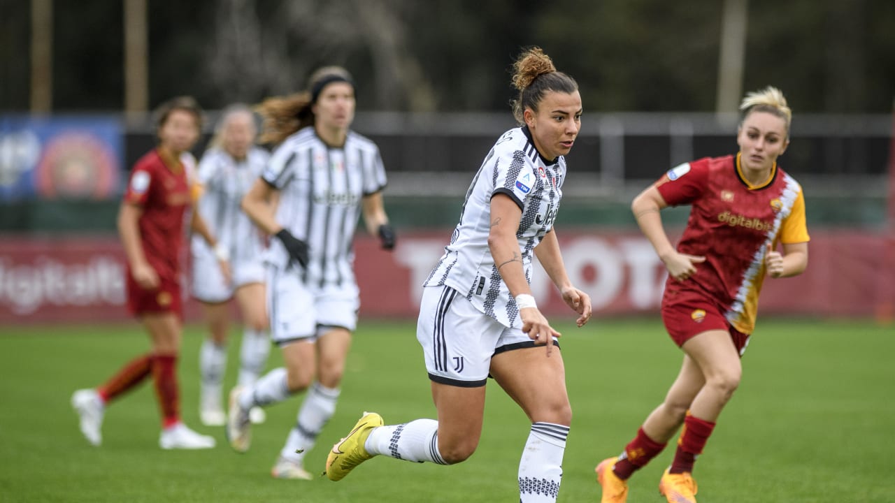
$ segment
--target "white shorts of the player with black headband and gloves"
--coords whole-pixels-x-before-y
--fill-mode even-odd
[[[298,268],[268,267],[270,338],[277,345],[315,340],[328,328],[354,331],[361,307],[354,283],[316,288],[302,282]]]

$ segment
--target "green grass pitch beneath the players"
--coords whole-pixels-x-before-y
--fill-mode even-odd
[[[433,417],[429,381],[407,321],[362,320],[336,416],[311,450],[323,469],[328,448],[363,410],[388,423]],[[616,455],[657,405],[681,360],[656,318],[561,325],[575,417],[559,501],[599,501],[593,466]],[[517,498],[516,468],[528,434],[524,414],[490,382],[485,431],[463,464],[417,465],[385,457],[345,481],[274,480],[269,475],[301,397],[268,408],[251,450],[235,454],[222,429],[198,420],[197,354],[202,330],[187,328],[180,365],[185,422],[214,434],[217,448],[158,448],[151,385],[107,409],[104,444],[81,438],[69,405],[148,347],[136,323],[78,328],[0,328],[0,501],[396,501],[495,502]],[[238,341],[234,332],[234,343]],[[895,500],[895,329],[870,321],[760,320],[744,378],[696,465],[701,502]],[[235,379],[231,344],[226,384]],[[272,351],[268,367],[278,364]],[[673,444],[631,480],[628,500],[659,501]]]

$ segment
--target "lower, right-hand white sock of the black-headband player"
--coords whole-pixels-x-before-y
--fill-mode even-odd
[[[304,455],[314,447],[320,431],[336,413],[338,394],[338,388],[324,388],[319,382],[311,385],[280,456],[302,463]],[[299,450],[302,452],[295,452]]]

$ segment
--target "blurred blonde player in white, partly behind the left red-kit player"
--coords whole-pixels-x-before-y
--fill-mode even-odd
[[[206,426],[223,426],[221,405],[226,371],[226,344],[230,323],[229,301],[239,304],[245,328],[240,347],[239,384],[251,386],[268,359],[270,340],[265,308],[265,271],[261,253],[263,236],[240,203],[268,163],[268,152],[254,146],[256,127],[251,110],[244,105],[227,107],[217,123],[210,147],[199,163],[202,195],[200,215],[217,236],[217,249],[192,238],[192,295],[202,304],[209,337],[199,354],[201,388],[200,419]],[[217,257],[228,257],[232,280],[226,282]],[[264,411],[251,410],[253,422],[263,422]]]

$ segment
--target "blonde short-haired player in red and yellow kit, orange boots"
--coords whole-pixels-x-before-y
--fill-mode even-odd
[[[657,456],[681,424],[659,490],[670,502],[695,501],[695,458],[739,385],[740,357],[754,329],[764,276],[796,276],[808,264],[802,187],[777,166],[789,145],[786,98],[768,87],[747,94],[740,110],[736,156],[677,166],[631,205],[669,271],[662,320],[684,351],[684,363],[635,438],[597,466],[603,503],[626,500],[628,477]],[[692,209],[675,249],[659,211],[679,204]],[[777,252],[780,244],[783,253]]]

